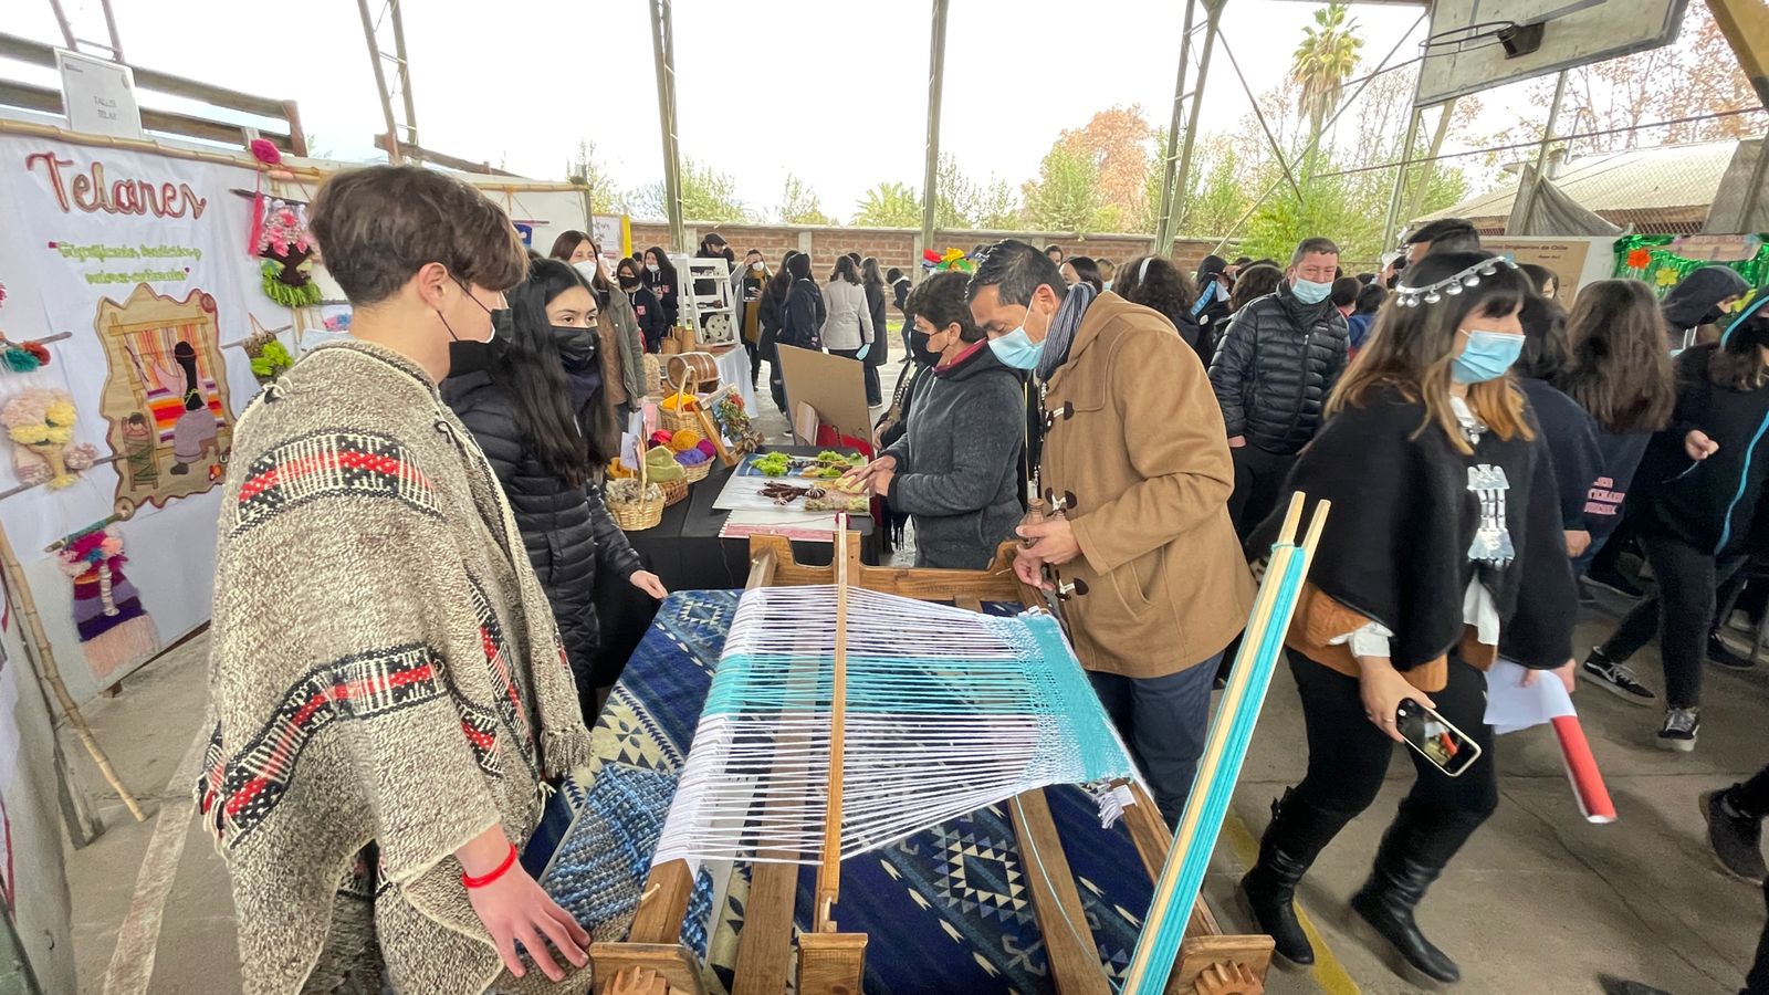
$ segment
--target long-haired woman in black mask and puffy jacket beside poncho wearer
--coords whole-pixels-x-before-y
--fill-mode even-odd
[[[522,544],[540,577],[577,680],[584,722],[594,724],[600,625],[596,584],[630,582],[662,598],[656,574],[601,503],[601,467],[621,451],[596,358],[596,296],[564,262],[541,258],[509,290],[511,333],[485,368],[451,375],[442,400],[455,409],[497,473]]]

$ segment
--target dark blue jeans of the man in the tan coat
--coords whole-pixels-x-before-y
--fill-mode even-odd
[[[1185,797],[1198,777],[1198,758],[1210,729],[1210,687],[1222,653],[1168,676],[1088,673],[1130,758],[1155,791],[1168,829],[1180,825]]]

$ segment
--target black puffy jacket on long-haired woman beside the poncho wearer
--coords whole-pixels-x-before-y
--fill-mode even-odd
[[[580,701],[594,698],[589,673],[596,660],[596,582],[626,582],[640,568],[626,533],[614,524],[598,485],[571,487],[541,466],[509,395],[479,370],[442,381],[442,400],[455,409],[504,485],[522,529],[529,563],[552,602]]]

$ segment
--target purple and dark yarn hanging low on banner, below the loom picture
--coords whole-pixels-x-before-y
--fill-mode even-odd
[[[87,529],[65,540],[57,554],[74,582],[74,627],[92,676],[103,682],[159,650],[159,632],[142,607],[142,595],[122,575],[122,533],[115,524]]]

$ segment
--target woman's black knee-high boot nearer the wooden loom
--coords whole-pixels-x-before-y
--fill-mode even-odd
[[[1290,963],[1314,963],[1314,947],[1297,921],[1297,883],[1355,814],[1314,807],[1293,788],[1284,788],[1284,797],[1272,802],[1272,823],[1260,837],[1260,862],[1240,878],[1240,891],[1260,929],[1272,937],[1277,956]]]

